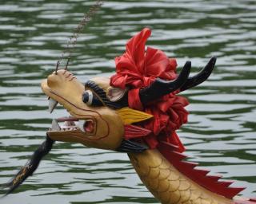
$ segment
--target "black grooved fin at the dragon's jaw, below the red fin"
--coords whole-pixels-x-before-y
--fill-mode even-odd
[[[120,147],[116,151],[120,152],[142,152],[146,151],[148,147],[141,143],[132,142],[130,140],[123,139]]]

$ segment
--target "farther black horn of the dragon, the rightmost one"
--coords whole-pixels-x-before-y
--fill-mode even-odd
[[[180,91],[183,92],[186,89],[197,86],[198,84],[201,84],[202,82],[204,82],[208,77],[210,77],[210,73],[212,73],[214,69],[216,60],[217,60],[216,57],[212,57],[210,61],[207,63],[207,65],[204,67],[204,69],[201,70],[200,73],[198,73],[194,77],[189,77],[186,80],[186,83],[182,85],[182,87],[180,88]]]

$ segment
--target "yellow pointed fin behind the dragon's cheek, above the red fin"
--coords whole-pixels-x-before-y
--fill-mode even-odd
[[[134,124],[153,117],[146,112],[140,112],[128,107],[121,108],[117,112],[124,124]]]

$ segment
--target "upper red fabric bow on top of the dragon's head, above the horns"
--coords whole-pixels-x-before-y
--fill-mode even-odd
[[[176,77],[176,60],[169,59],[159,49],[148,47],[145,44],[150,37],[150,29],[142,29],[126,44],[126,53],[115,58],[116,72],[111,77],[114,87],[142,88],[151,84],[155,78],[173,80]]]

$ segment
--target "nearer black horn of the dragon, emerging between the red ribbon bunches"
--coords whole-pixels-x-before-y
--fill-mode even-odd
[[[142,104],[147,104],[152,100],[157,100],[158,98],[176,91],[178,88],[181,88],[182,85],[186,82],[189,77],[191,68],[191,62],[186,61],[181,73],[178,75],[175,80],[162,80],[157,78],[152,84],[146,88],[142,88],[139,91],[139,96]]]

